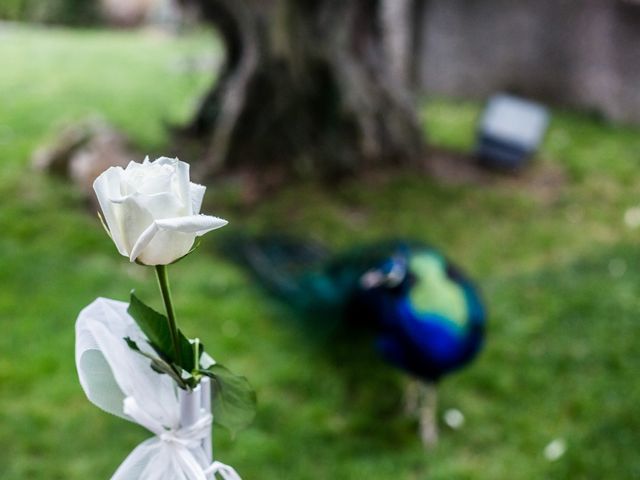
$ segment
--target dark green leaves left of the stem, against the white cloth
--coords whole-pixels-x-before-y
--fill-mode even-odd
[[[178,341],[180,342],[180,354],[182,357],[182,363],[179,364],[171,341],[171,331],[169,330],[167,317],[145,305],[133,292],[131,292],[131,302],[127,312],[147,336],[149,345],[158,355],[167,362],[184,368],[187,372],[193,371],[195,367],[193,346],[187,337],[178,330]]]

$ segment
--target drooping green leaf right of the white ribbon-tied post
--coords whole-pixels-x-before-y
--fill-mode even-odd
[[[249,425],[256,414],[256,393],[249,381],[216,363],[200,373],[211,378],[213,420],[235,435]]]

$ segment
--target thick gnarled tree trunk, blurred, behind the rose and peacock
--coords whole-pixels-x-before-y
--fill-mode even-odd
[[[420,159],[420,0],[184,1],[199,4],[226,47],[182,131],[203,150],[200,175],[246,166],[333,179]]]

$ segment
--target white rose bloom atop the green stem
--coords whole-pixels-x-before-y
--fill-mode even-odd
[[[199,214],[205,187],[189,181],[189,165],[177,158],[111,167],[93,189],[118,252],[132,262],[167,265],[196,237],[227,224]]]

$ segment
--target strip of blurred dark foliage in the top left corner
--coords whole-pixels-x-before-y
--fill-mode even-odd
[[[102,21],[95,0],[2,0],[0,19],[74,26]]]

